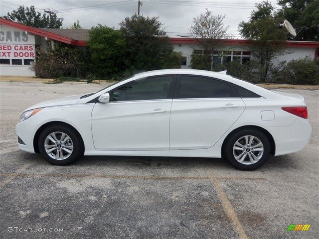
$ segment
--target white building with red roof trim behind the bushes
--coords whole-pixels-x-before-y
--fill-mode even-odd
[[[56,42],[85,47],[90,30],[75,29],[39,29],[0,18],[0,76],[34,76],[30,65],[34,63],[35,49],[45,50],[47,45],[54,47]],[[193,52],[203,53],[204,49],[194,38],[170,38],[176,52],[184,58],[182,68],[190,68]],[[213,55],[213,65],[239,59],[241,62],[251,59],[249,40],[221,40],[220,51]],[[317,59],[319,42],[286,41],[286,54],[274,63],[293,59]],[[220,54],[221,53],[221,54]]]

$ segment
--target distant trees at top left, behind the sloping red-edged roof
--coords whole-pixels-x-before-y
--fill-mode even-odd
[[[36,28],[60,28],[63,22],[63,18],[58,18],[53,12],[50,13],[50,16],[45,13],[41,15],[41,12],[35,11],[33,5],[30,8],[19,6],[17,10],[8,12],[7,16],[3,18]]]

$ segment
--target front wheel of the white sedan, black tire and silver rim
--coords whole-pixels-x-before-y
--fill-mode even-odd
[[[82,145],[78,132],[70,127],[57,125],[45,128],[38,141],[41,155],[54,165],[69,165],[83,156],[84,147]]]

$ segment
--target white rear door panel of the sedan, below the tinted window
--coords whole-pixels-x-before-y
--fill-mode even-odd
[[[175,149],[212,147],[245,109],[241,98],[174,99],[170,144]]]

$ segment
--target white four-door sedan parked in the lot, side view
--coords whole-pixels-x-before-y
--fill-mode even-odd
[[[26,109],[18,146],[55,165],[83,155],[224,157],[254,170],[269,155],[303,149],[304,98],[223,73],[170,69]]]

